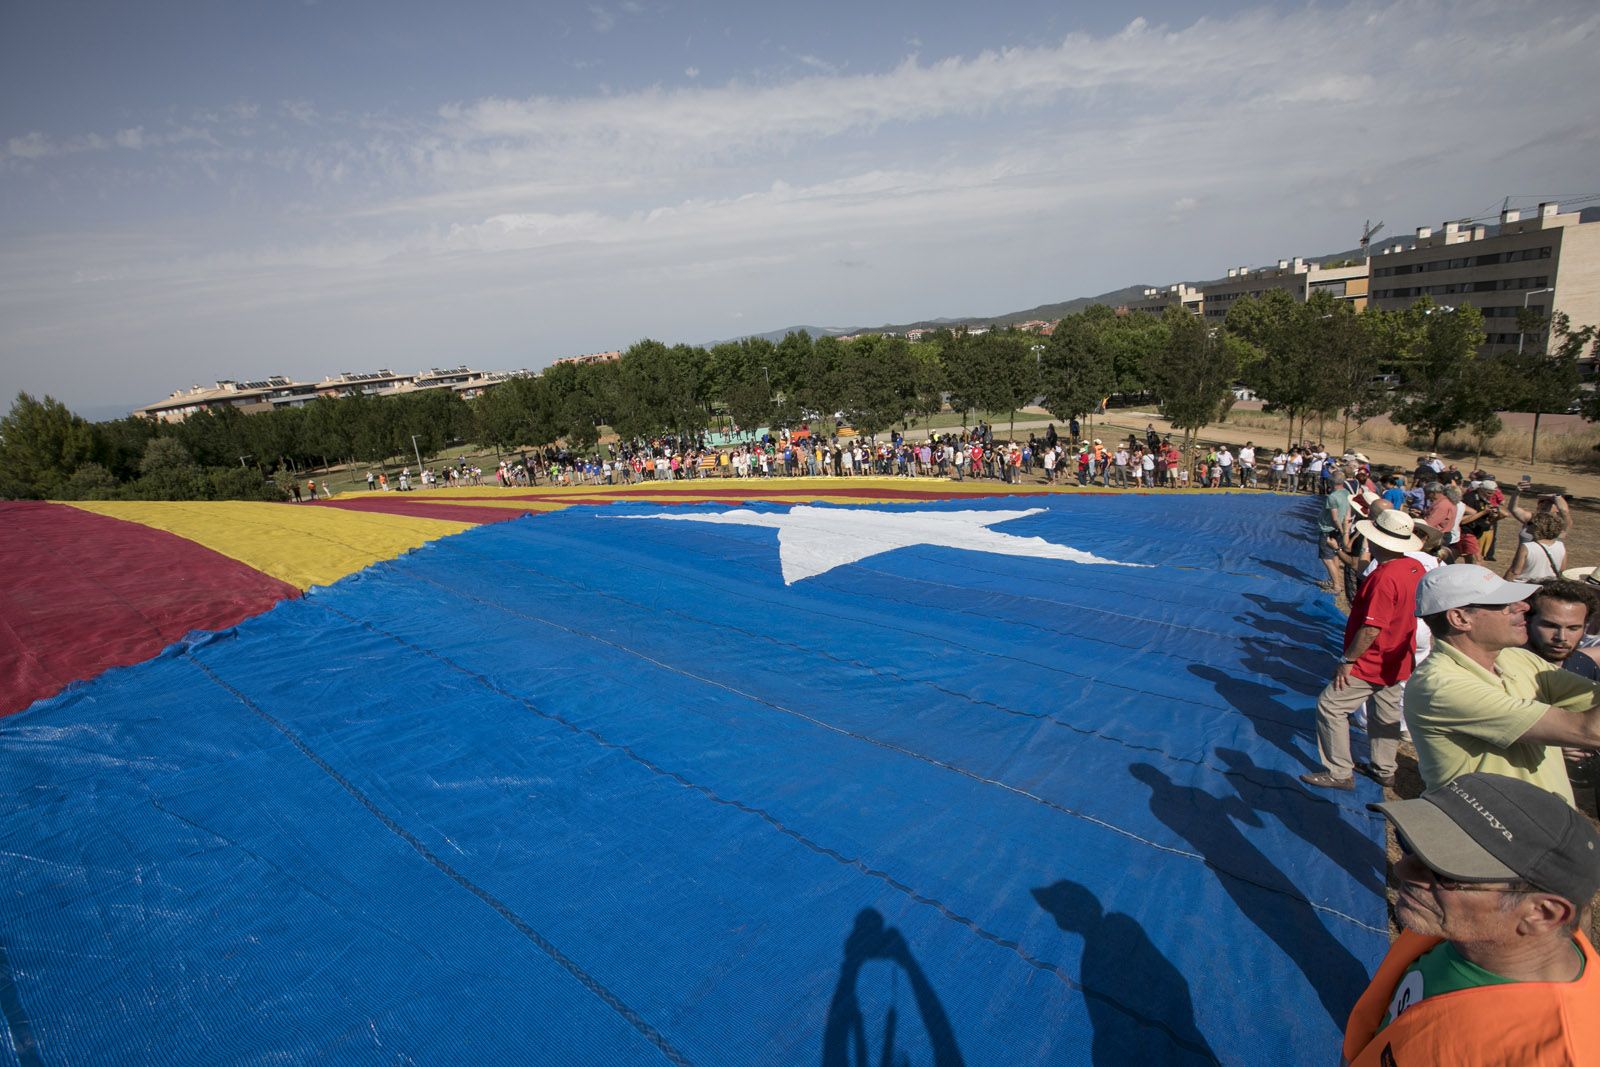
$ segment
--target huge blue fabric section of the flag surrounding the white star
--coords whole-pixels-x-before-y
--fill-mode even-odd
[[[1378,787],[1294,781],[1310,507],[877,506],[1146,566],[792,584],[573,509],[112,670],[0,721],[0,1062],[1330,1062],[1387,928]]]

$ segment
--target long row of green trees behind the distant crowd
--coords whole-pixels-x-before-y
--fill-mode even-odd
[[[1542,336],[1542,323],[1523,323]],[[595,448],[603,427],[624,438],[694,438],[715,424],[797,426],[835,413],[867,435],[946,408],[1016,413],[1034,402],[1058,419],[1115,397],[1154,398],[1189,438],[1226,418],[1238,384],[1283,411],[1288,437],[1309,418],[1346,432],[1390,413],[1435,445],[1443,434],[1493,434],[1496,411],[1565,411],[1579,395],[1578,360],[1595,328],[1557,317],[1552,344],[1480,354],[1483,322],[1469,306],[1419,301],[1357,314],[1347,301],[1288,293],[1237,301],[1221,323],[1181,309],[1118,314],[1093,306],[1048,338],[942,331],[910,342],[792,333],[710,349],[640,341],[611,363],[563,363],[475,400],[450,390],[318,398],[243,414],[221,408],[184,422],[86,422],[56,400],[18,397],[0,419],[3,498],[270,498],[264,475],[298,477],[338,462],[381,464],[450,445]],[[1590,411],[1595,418],[1600,411]]]

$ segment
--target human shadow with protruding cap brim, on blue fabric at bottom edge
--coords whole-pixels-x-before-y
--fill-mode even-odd
[[[1034,889],[1056,925],[1083,937],[1078,976],[1094,1027],[1094,1064],[1216,1064],[1195,1025],[1182,973],[1130,915],[1106,912],[1077,881]]]

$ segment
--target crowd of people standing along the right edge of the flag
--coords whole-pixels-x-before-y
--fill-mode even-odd
[[[1517,547],[1498,574],[1502,520]],[[1571,522],[1562,494],[1437,456],[1410,478],[1342,458],[1323,501],[1323,587],[1350,613],[1317,699],[1322,769],[1301,781],[1392,789],[1408,733],[1424,790],[1374,805],[1402,848],[1403,931],[1350,1014],[1347,1064],[1600,1062],[1600,833],[1573,792],[1600,750],[1600,576],[1566,566]]]

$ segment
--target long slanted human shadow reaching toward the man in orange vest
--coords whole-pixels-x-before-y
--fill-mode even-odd
[[[1328,933],[1299,888],[1240,832],[1237,822],[1259,827],[1261,816],[1238,797],[1219,800],[1203,789],[1179,785],[1149,763],[1134,763],[1128,771],[1150,787],[1150,814],[1216,872],[1240,915],[1301,969],[1328,1017],[1342,1027],[1366,985],[1366,966]],[[1219,944],[1214,957],[1224,958],[1229,950],[1230,945]]]

